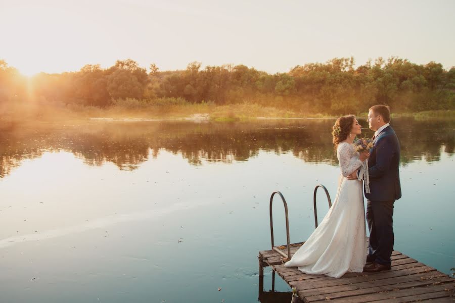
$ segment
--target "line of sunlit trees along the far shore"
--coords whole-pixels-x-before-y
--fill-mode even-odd
[[[185,70],[149,69],[131,59],[109,68],[85,65],[77,72],[40,73],[28,79],[0,60],[0,104],[109,107],[118,100],[144,104],[254,103],[308,113],[365,111],[373,104],[394,112],[455,109],[455,67],[418,65],[406,59],[378,58],[355,68],[354,59],[297,65],[287,73],[268,74],[245,65]]]

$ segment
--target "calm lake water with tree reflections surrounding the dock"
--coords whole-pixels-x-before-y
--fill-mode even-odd
[[[0,301],[257,301],[257,254],[270,247],[271,192],[282,191],[288,201],[291,242],[314,229],[314,186],[326,185],[334,198],[333,122],[2,131]],[[395,119],[392,125],[402,148],[395,249],[449,274],[455,122]],[[327,199],[322,191],[318,198],[322,220]],[[280,203],[274,205],[277,244],[286,242]],[[265,270],[265,290],[270,276]],[[289,290],[279,277],[275,286]]]

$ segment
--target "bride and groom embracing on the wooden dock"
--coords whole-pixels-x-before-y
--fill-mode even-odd
[[[355,151],[353,146],[355,136],[361,134],[361,126],[355,117],[344,116],[335,122],[333,143],[341,175],[334,203],[321,224],[285,264],[286,267],[298,267],[307,274],[335,278],[346,272],[390,270],[394,240],[393,204],[401,197],[400,146],[389,125],[390,110],[387,106],[371,107],[367,122],[375,131],[374,145],[370,152],[363,153]],[[367,198],[368,252],[362,189]]]

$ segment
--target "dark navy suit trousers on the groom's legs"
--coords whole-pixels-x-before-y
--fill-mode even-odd
[[[367,223],[370,230],[369,261],[390,265],[393,251],[393,201],[367,200]]]

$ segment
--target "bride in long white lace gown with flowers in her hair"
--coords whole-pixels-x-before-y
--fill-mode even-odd
[[[286,267],[297,266],[306,274],[339,278],[346,272],[362,272],[367,259],[365,210],[362,182],[348,180],[369,155],[357,153],[352,145],[361,126],[354,116],[338,118],[333,126],[341,175],[333,206]]]

